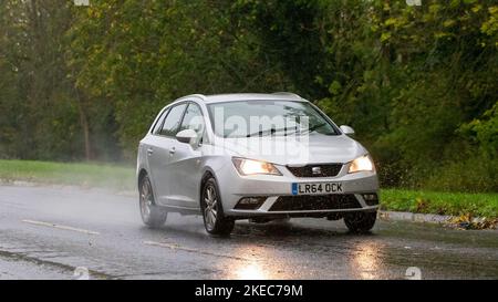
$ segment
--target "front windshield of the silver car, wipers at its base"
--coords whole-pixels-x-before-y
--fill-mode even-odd
[[[212,131],[221,137],[338,135],[340,132],[308,102],[237,101],[208,105]]]

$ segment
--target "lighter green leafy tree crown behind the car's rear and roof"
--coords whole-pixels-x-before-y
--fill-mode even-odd
[[[229,3],[93,1],[75,9],[68,33],[73,76],[94,102],[112,104],[129,157],[154,115],[176,97],[272,91],[281,81]]]

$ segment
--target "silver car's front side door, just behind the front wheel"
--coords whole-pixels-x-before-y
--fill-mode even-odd
[[[174,206],[183,208],[198,208],[198,192],[201,170],[201,144],[205,133],[205,121],[200,106],[190,102],[184,114],[178,132],[194,129],[197,139],[191,144],[176,140],[175,153],[170,157],[168,177],[172,184],[170,198]]]

